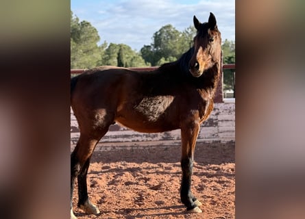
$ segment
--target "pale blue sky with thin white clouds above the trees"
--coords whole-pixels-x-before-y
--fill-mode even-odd
[[[127,44],[140,51],[164,25],[179,31],[193,25],[195,15],[202,23],[215,14],[221,38],[235,41],[234,0],[71,0],[71,10],[80,21],[88,21],[101,38]]]

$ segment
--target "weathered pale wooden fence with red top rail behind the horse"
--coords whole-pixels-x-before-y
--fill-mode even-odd
[[[134,70],[154,70],[158,67],[131,68]],[[234,69],[235,64],[224,64],[222,69]],[[72,69],[71,74],[83,73],[84,69]],[[199,132],[198,142],[231,142],[235,141],[235,103],[234,100],[223,99],[223,75],[215,94],[215,106],[212,114],[206,120]],[[71,146],[74,147],[80,131],[77,120],[71,110]],[[111,149],[112,147],[128,147],[137,145],[173,145],[180,144],[180,130],[166,131],[164,133],[138,133],[117,124],[111,125],[108,133],[101,140],[103,147],[96,150]]]

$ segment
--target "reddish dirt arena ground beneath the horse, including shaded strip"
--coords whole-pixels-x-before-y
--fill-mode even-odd
[[[141,146],[95,151],[88,172],[88,194],[98,216],[84,218],[235,218],[235,144],[197,143],[192,192],[202,214],[186,214],[180,202],[180,146]],[[77,188],[77,186],[75,186]]]

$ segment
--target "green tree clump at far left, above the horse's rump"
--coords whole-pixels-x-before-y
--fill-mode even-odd
[[[97,29],[88,21],[80,21],[71,11],[71,68],[93,68],[95,66],[112,65],[122,67],[149,66],[141,53],[133,51],[125,44],[106,41],[101,45]]]

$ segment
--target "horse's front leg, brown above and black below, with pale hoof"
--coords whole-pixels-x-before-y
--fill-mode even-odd
[[[186,205],[188,212],[201,213],[199,206],[202,205],[191,192],[191,181],[193,175],[193,157],[195,144],[199,133],[199,123],[192,122],[185,124],[181,129],[182,138],[182,181],[180,188],[180,198],[182,203]]]

